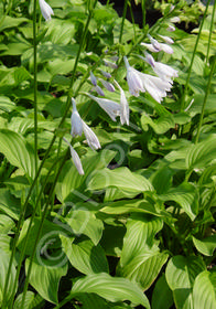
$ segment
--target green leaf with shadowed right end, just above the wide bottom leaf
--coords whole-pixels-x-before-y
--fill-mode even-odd
[[[61,236],[61,239],[72,266],[80,273],[90,275],[109,271],[107,258],[100,245],[94,246],[90,241],[74,244],[65,236]]]

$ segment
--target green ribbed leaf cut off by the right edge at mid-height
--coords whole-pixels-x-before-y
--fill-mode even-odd
[[[186,152],[186,168],[190,170],[206,168],[216,157],[216,135],[192,146]]]

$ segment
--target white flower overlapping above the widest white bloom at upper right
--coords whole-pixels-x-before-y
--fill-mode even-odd
[[[173,84],[173,81],[171,79],[172,77],[177,77],[177,71],[174,70],[172,66],[168,65],[168,64],[163,64],[161,62],[156,62],[154,61],[154,58],[152,57],[152,55],[148,54],[147,52],[144,53],[145,58],[140,56],[142,60],[145,60],[152,67],[152,70],[154,71],[154,73],[161,78],[161,79],[165,79],[168,82],[170,82],[171,84]]]

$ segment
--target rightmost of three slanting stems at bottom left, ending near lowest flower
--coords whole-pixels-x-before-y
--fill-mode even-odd
[[[37,243],[40,241],[40,236],[41,236],[41,232],[42,232],[42,228],[43,228],[43,224],[44,224],[47,211],[48,211],[48,206],[50,206],[50,203],[52,202],[52,199],[53,199],[53,192],[55,190],[55,185],[57,183],[57,179],[58,179],[58,175],[60,175],[60,173],[62,171],[62,168],[63,168],[63,166],[65,163],[66,157],[67,157],[67,152],[66,152],[65,157],[63,158],[63,160],[62,160],[62,162],[60,164],[58,171],[57,171],[57,173],[55,175],[55,179],[53,181],[53,184],[52,184],[48,198],[47,198],[47,201],[46,201],[44,210],[43,210],[43,214],[42,214],[42,217],[41,217],[41,221],[40,221],[39,231],[37,231],[37,234],[36,234],[36,237],[35,237],[35,243],[34,243],[34,246],[33,246],[32,255],[30,257],[30,264],[29,264],[28,271],[26,271],[26,278],[25,278],[23,294],[22,294],[22,303],[21,303],[20,309],[24,308],[23,306],[24,306],[24,301],[25,301],[25,296],[26,296],[28,287],[29,287],[29,280],[30,280],[30,275],[31,275],[31,269],[32,269],[32,263],[33,263],[34,255],[35,255],[35,252],[36,252]]]

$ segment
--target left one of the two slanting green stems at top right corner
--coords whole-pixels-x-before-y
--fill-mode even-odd
[[[192,67],[193,67],[193,64],[194,64],[194,58],[195,58],[195,55],[196,55],[196,50],[197,50],[198,42],[199,42],[199,39],[201,39],[201,33],[202,33],[203,24],[204,24],[206,14],[207,14],[209,2],[210,2],[210,0],[208,0],[207,3],[206,3],[205,12],[204,12],[204,15],[202,17],[202,21],[201,21],[201,25],[199,25],[198,35],[196,36],[196,43],[195,43],[195,46],[194,46],[194,51],[193,51],[193,55],[192,55],[192,60],[191,60],[191,65],[190,65],[190,68],[188,68],[186,83],[185,83],[185,87],[184,87],[184,93],[183,93],[182,100],[181,100],[181,111],[183,111],[184,108],[185,108],[185,98],[186,98],[187,90],[188,90],[188,83],[190,83],[190,78],[191,78],[191,74],[192,74]]]

